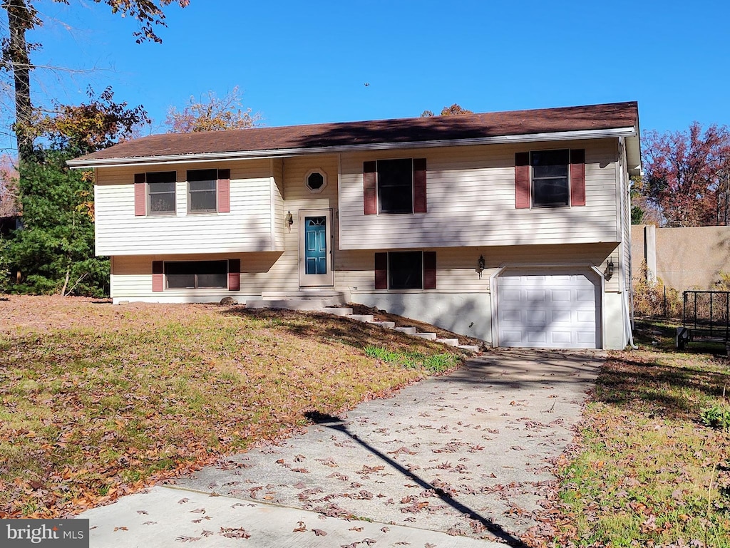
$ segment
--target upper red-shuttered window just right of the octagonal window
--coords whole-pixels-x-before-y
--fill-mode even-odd
[[[425,213],[426,159],[364,162],[365,215]]]

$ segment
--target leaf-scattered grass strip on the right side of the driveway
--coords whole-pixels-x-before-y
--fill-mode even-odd
[[[678,352],[661,322],[634,336],[639,350],[610,352],[530,544],[730,547],[730,433],[702,422],[730,396],[724,346]]]

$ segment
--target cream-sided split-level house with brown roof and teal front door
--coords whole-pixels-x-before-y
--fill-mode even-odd
[[[630,337],[634,102],[143,137],[96,172],[120,301],[339,294],[498,347]]]

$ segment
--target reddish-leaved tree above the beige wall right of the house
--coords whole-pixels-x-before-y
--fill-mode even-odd
[[[730,133],[712,125],[642,139],[645,178],[642,193],[658,207],[670,227],[726,224],[730,177]]]

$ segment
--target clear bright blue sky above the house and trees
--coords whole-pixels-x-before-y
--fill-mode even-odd
[[[642,131],[730,125],[721,0],[191,0],[166,9],[161,45],[106,4],[71,4],[37,1],[32,60],[84,72],[37,70],[34,101],[111,85],[155,133],[170,106],[236,85],[266,126],[634,100]]]

